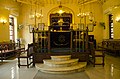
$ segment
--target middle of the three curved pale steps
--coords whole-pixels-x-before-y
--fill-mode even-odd
[[[69,59],[66,61],[43,60],[44,64],[50,67],[69,67],[78,64],[79,59]]]

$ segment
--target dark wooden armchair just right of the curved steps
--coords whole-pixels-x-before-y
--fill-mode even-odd
[[[90,62],[93,64],[93,66],[95,67],[95,65],[102,65],[104,67],[105,63],[104,63],[104,49],[102,48],[98,48],[95,49],[93,43],[90,43],[90,55],[89,55],[89,60]],[[101,58],[101,62],[97,63],[96,59],[97,58]]]

